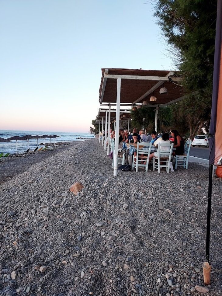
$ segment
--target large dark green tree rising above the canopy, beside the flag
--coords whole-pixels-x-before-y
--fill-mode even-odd
[[[155,13],[171,57],[184,77],[187,99],[173,106],[175,120],[186,117],[190,137],[209,127],[217,0],[156,0]],[[175,123],[178,125],[178,123]]]

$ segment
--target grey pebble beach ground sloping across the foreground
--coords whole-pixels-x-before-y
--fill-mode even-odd
[[[115,178],[96,140],[45,158],[0,185],[0,295],[200,295],[207,186],[193,163]],[[221,213],[214,179],[206,295],[221,295]]]

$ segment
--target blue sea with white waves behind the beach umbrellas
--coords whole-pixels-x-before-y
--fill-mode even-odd
[[[4,131],[0,130],[0,137],[1,138],[11,138],[14,136],[25,136],[25,135],[32,135],[32,136],[42,136],[42,135],[57,135],[60,138],[51,138],[51,143],[57,142],[70,142],[70,141],[85,141],[86,139],[93,139],[95,138],[94,134],[90,133],[63,133],[63,132],[51,132],[51,131]],[[38,139],[38,147],[39,144],[44,144],[45,139]],[[50,143],[50,138],[46,138],[46,143]],[[37,139],[29,139],[29,149],[33,150],[37,146]],[[18,153],[24,152],[28,149],[28,140],[27,141],[18,141]],[[16,153],[16,141],[1,143],[0,142],[0,153],[7,153],[10,154]]]

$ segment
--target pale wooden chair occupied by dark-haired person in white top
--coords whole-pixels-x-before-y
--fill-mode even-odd
[[[161,148],[169,147],[170,150],[163,150]],[[166,168],[167,173],[170,172],[170,162],[171,155],[173,151],[173,143],[159,143],[157,155],[153,157],[153,171],[158,169],[158,173],[160,173],[160,168]]]

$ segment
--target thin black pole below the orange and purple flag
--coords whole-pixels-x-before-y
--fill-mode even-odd
[[[208,182],[208,200],[207,200],[207,222],[206,222],[206,261],[210,263],[210,214],[211,214],[211,196],[212,196],[212,172],[213,165],[209,167]]]

